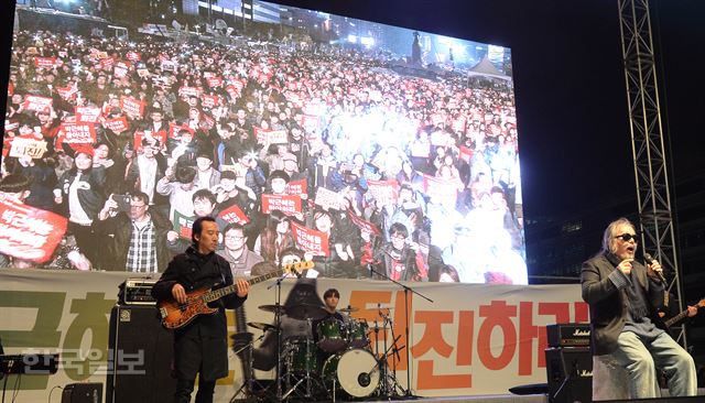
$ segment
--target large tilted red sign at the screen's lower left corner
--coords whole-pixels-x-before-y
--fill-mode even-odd
[[[66,232],[67,222],[57,214],[0,198],[0,252],[45,262]]]

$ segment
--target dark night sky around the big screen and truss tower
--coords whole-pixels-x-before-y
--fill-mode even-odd
[[[634,197],[617,0],[299,0],[282,3],[509,46],[528,217]],[[703,171],[705,1],[651,0],[675,176]],[[7,7],[3,6],[3,7]],[[11,34],[2,13],[2,108]],[[661,64],[662,63],[662,64]],[[636,209],[636,206],[634,206]]]

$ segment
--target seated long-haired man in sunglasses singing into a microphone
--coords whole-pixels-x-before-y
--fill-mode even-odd
[[[661,265],[651,260],[644,266],[634,260],[636,251],[634,227],[619,218],[605,230],[603,250],[583,263],[593,356],[626,370],[625,388],[631,399],[660,396],[657,368],[665,374],[671,396],[695,395],[693,358],[659,327],[657,309],[663,304],[665,285]],[[593,382],[595,389],[601,381],[595,377]]]

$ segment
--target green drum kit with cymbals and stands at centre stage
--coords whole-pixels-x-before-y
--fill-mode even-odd
[[[401,396],[405,392],[395,378],[399,351],[403,347],[397,346],[401,336],[394,337],[388,311],[390,308],[379,305],[378,318],[371,327],[368,322],[350,315],[359,311],[351,306],[338,309],[340,315],[330,315],[323,306],[311,304],[292,307],[261,305],[259,308],[285,315],[304,325],[292,327],[289,319],[279,320],[279,327],[248,323],[249,327],[264,334],[273,331],[281,337],[276,351],[278,391],[254,395],[243,385],[248,396],[265,401],[293,399],[335,402],[366,397],[389,399]],[[390,331],[391,346],[387,346],[386,336]],[[383,348],[378,342],[370,341],[372,333],[375,340],[378,337],[380,341],[383,339]]]

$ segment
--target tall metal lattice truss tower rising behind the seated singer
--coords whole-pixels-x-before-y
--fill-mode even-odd
[[[681,270],[676,257],[649,0],[618,0],[618,3],[641,246],[664,266],[666,290],[677,298],[680,312],[683,309]],[[681,327],[679,330],[677,341],[687,347],[685,329]]]

